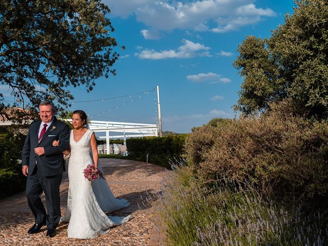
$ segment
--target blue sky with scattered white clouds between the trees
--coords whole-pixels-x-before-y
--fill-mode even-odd
[[[155,91],[140,98],[77,101],[130,95],[159,85],[162,130],[178,133],[214,117],[235,116],[232,106],[242,83],[232,66],[238,45],[246,35],[269,37],[294,7],[292,0],[103,2],[112,11],[112,36],[126,49],[118,49],[116,76],[99,78],[91,93],[84,87],[69,88],[75,97],[71,109],[85,110],[94,120],[156,124]]]

